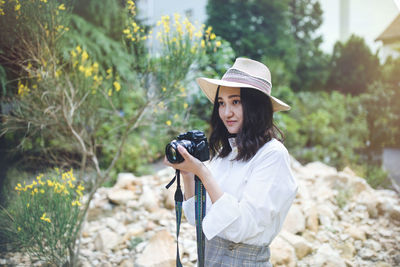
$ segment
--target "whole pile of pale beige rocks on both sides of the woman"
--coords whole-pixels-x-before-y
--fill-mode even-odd
[[[292,159],[299,192],[271,244],[274,266],[399,266],[400,198],[374,190],[350,169]],[[175,266],[174,176],[121,173],[96,193],[82,231],[82,266]],[[195,229],[183,218],[183,266],[196,266]],[[18,257],[18,256],[15,256]],[[15,259],[17,260],[17,258]]]

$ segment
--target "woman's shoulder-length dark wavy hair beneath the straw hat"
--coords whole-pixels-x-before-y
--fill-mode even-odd
[[[211,115],[209,138],[211,158],[215,156],[224,158],[232,151],[228,141],[232,135],[219,117],[219,89],[218,87]],[[252,88],[240,88],[240,98],[243,108],[243,125],[236,135],[238,155],[235,160],[248,161],[272,138],[283,142],[284,135],[274,124],[272,102],[269,96]]]

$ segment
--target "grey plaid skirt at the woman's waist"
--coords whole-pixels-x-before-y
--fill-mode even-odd
[[[268,246],[255,246],[220,238],[218,236],[205,243],[206,267],[272,267],[269,262]]]

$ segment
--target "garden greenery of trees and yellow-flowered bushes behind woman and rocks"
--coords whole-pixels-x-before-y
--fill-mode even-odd
[[[149,25],[132,0],[0,0],[1,250],[78,266],[97,190],[151,174],[177,134],[209,132],[194,80],[239,56],[265,63],[291,105],[274,119],[294,158],[391,188],[380,155],[400,147],[400,58],[354,35],[324,53],[316,0],[231,2],[209,1],[205,24]]]

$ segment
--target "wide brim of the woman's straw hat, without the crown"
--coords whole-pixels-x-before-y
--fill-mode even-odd
[[[204,92],[204,94],[207,96],[207,98],[211,101],[211,103],[214,103],[214,99],[215,99],[215,95],[217,93],[218,86],[252,88],[252,89],[258,90],[258,91],[268,95],[267,93],[261,91],[257,87],[254,87],[250,84],[245,84],[245,83],[229,82],[229,81],[210,79],[210,78],[197,78],[196,82],[200,86],[200,88]],[[279,100],[276,97],[273,97],[272,95],[268,95],[268,96],[271,98],[272,108],[273,108],[274,112],[290,110],[290,106],[288,104],[286,104],[285,102]]]

